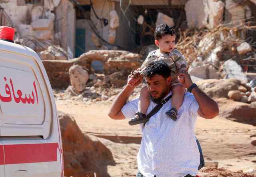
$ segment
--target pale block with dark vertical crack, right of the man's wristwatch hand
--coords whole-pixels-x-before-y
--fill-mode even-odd
[[[217,70],[208,64],[202,64],[201,62],[193,62],[188,70],[190,75],[196,76],[202,79],[219,79],[220,75]]]

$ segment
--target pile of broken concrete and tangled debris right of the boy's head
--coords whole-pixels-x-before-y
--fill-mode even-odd
[[[204,79],[216,78],[217,74],[225,78],[228,75],[228,64],[225,62],[228,60],[242,66],[241,71],[255,72],[255,68],[247,67],[255,63],[253,59],[256,57],[255,48],[245,42],[246,31],[251,30],[249,28],[243,24],[235,27],[218,25],[213,29],[188,29],[180,32],[176,48],[185,56],[191,70],[194,66],[202,66],[198,72]],[[210,70],[212,77],[204,74],[209,72],[207,70]]]

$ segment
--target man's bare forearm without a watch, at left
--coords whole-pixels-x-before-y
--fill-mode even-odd
[[[108,113],[108,116],[112,119],[121,119],[122,117],[116,117],[118,113],[120,113],[122,107],[130,97],[132,91],[134,88],[131,88],[130,86],[126,85],[124,89],[116,96],[114,99],[110,111]],[[124,118],[124,117],[123,117]]]

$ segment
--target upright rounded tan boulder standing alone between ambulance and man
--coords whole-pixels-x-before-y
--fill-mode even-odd
[[[69,68],[70,83],[76,93],[82,92],[86,88],[89,74],[82,66],[74,65]]]

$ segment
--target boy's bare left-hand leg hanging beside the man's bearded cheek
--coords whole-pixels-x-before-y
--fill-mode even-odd
[[[146,114],[149,104],[150,104],[150,99],[149,99],[148,88],[145,86],[140,90],[138,111],[141,112],[142,114]],[[135,117],[137,119],[140,118],[139,115],[135,115]]]

